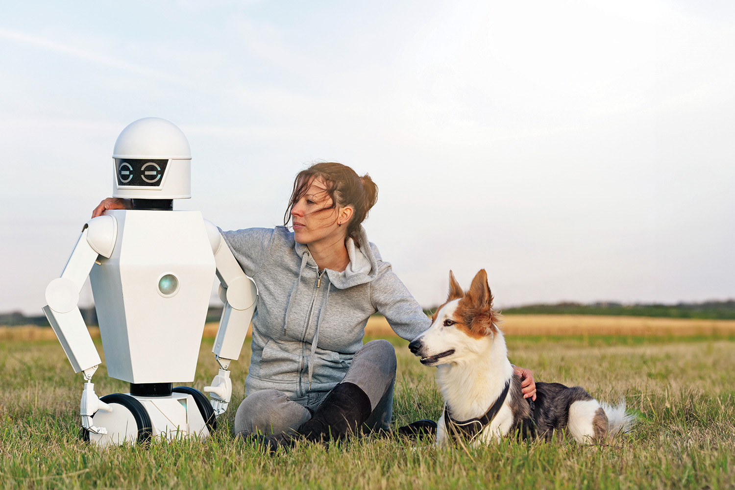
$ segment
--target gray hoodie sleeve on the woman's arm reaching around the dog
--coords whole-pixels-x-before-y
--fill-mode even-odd
[[[398,336],[413,340],[429,328],[431,319],[393,273],[390,264],[383,264],[387,267],[370,284],[370,300]]]

